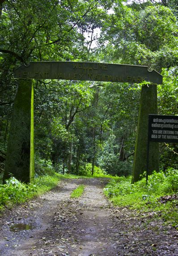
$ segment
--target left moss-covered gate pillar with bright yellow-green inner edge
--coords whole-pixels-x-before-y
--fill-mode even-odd
[[[18,79],[3,181],[11,176],[25,183],[34,178],[34,87],[30,79]]]

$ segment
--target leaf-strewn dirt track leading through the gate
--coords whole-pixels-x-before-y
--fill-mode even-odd
[[[176,229],[151,214],[114,207],[102,189],[108,179],[65,179],[50,192],[0,220],[0,255],[178,255]],[[84,194],[70,194],[84,184]],[[15,224],[31,225],[15,230]],[[14,232],[16,231],[16,232]]]

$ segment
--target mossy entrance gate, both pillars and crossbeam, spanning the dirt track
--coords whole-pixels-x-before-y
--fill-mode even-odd
[[[65,79],[119,83],[148,82],[141,89],[132,182],[146,170],[148,114],[157,114],[157,84],[162,76],[147,66],[96,62],[30,62],[15,70],[18,78],[8,139],[4,180],[11,175],[23,182],[34,179],[34,87],[32,79]],[[149,170],[159,170],[159,149],[152,143]]]

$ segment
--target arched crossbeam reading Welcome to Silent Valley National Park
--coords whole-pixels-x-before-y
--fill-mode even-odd
[[[97,62],[30,62],[19,66],[16,78],[62,79],[120,83],[162,84],[162,75],[148,71],[148,66],[109,64]]]

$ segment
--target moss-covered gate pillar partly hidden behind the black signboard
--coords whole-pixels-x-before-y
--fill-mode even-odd
[[[132,183],[140,179],[146,171],[148,143],[148,114],[157,114],[157,85],[142,86],[140,97],[139,122],[136,136],[136,147],[132,173]],[[159,171],[159,144],[150,142],[148,174]]]

